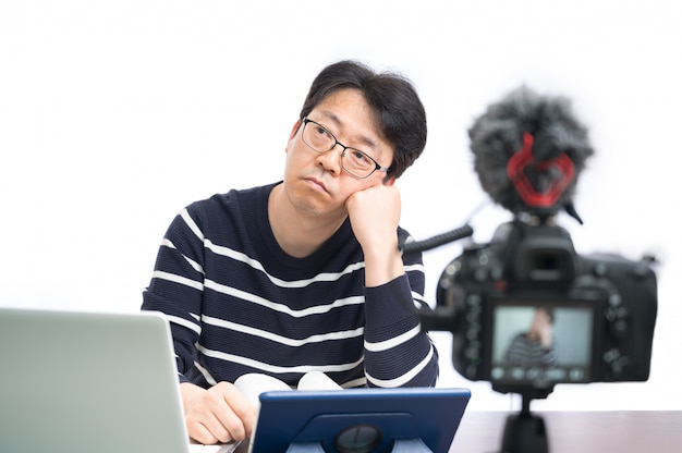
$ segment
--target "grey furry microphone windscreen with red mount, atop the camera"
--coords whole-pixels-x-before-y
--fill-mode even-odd
[[[494,201],[513,213],[547,216],[561,208],[572,209],[579,175],[594,150],[587,128],[575,118],[568,98],[540,96],[521,86],[488,106],[474,121],[468,136],[474,169]],[[527,182],[528,188],[520,193],[519,181],[512,181],[509,167],[510,159],[524,149],[528,156],[523,167],[517,167],[517,176]],[[570,172],[557,163],[561,159],[571,167]],[[557,188],[562,180],[564,184]],[[556,197],[547,201],[541,195],[552,188]],[[539,197],[523,196],[523,192]]]

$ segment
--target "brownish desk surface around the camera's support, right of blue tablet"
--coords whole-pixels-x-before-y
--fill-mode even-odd
[[[468,411],[450,453],[500,453],[507,412]],[[549,453],[680,453],[682,411],[538,412]]]

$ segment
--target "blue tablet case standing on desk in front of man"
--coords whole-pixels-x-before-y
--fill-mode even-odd
[[[447,452],[470,397],[460,388],[265,392],[251,452]]]

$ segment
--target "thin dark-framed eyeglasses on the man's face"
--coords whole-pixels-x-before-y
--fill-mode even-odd
[[[343,145],[337,139],[337,137],[333,136],[331,132],[327,131],[327,127],[308,118],[303,119],[302,136],[303,143],[305,143],[314,151],[320,154],[331,151],[337,145],[342,147],[343,152],[341,152],[341,167],[343,167],[343,169],[353,176],[360,177],[361,180],[368,177],[377,170],[389,170],[389,167],[379,166],[376,160],[360,149]]]

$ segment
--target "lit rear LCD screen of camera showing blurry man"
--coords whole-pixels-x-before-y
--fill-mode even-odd
[[[592,381],[594,304],[497,301],[491,318],[490,381]]]

